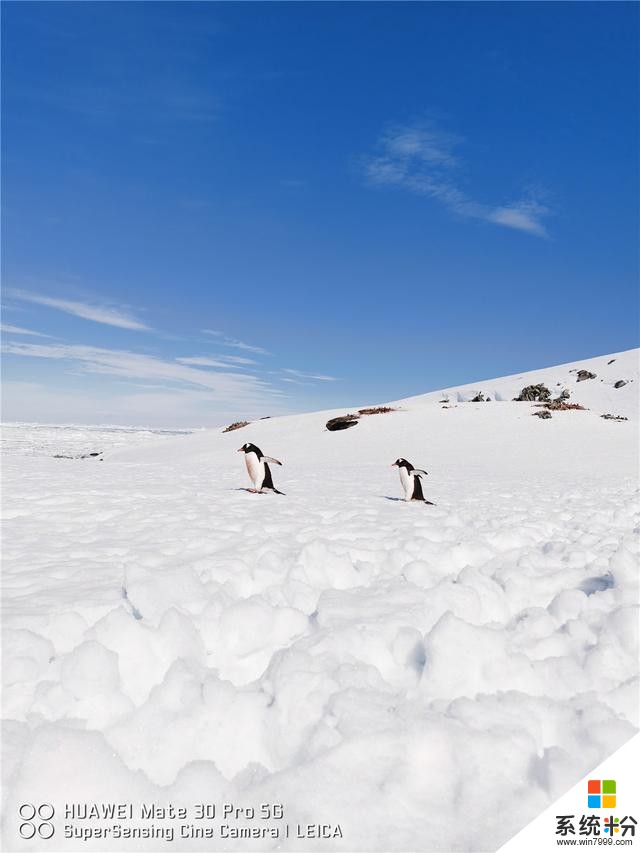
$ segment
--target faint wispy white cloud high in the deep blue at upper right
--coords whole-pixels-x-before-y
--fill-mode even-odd
[[[463,141],[434,124],[393,127],[378,140],[376,153],[364,158],[366,180],[433,198],[459,216],[548,236],[542,220],[550,211],[534,194],[489,205],[460,189],[455,180],[460,160],[455,152]]]

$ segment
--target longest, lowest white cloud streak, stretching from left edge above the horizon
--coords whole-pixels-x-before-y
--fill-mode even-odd
[[[244,373],[198,370],[154,356],[126,350],[110,350],[72,344],[26,344],[6,342],[10,355],[67,360],[82,373],[97,373],[129,379],[162,381],[171,385],[206,388],[224,402],[246,402],[278,395],[264,380]]]

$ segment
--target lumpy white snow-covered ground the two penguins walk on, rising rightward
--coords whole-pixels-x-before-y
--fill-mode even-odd
[[[537,382],[588,410],[510,402]],[[123,800],[284,804],[225,824],[279,837],[216,818],[174,849],[499,847],[638,726],[639,386],[631,351],[344,432],[339,410],[8,456],[5,849],[164,849],[17,839],[19,803]],[[286,496],[244,491],[245,441]],[[398,500],[398,456],[435,507]]]

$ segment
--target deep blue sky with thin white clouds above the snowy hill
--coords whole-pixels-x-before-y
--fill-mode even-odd
[[[638,6],[3,3],[4,418],[637,346]]]

